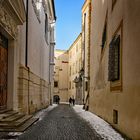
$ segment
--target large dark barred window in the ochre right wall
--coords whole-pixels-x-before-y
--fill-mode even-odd
[[[108,80],[120,79],[120,35],[116,35],[109,45]]]

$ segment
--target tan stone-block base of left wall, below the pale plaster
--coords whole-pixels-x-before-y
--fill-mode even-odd
[[[33,113],[49,105],[48,83],[24,66],[19,68],[18,108],[20,112]]]

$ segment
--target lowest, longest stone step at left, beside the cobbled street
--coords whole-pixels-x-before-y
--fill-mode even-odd
[[[30,118],[24,123],[21,123],[17,127],[0,127],[0,131],[2,132],[23,132],[25,131],[28,127],[30,127],[33,123],[35,123],[38,120],[38,118]],[[12,124],[11,124],[12,125]]]

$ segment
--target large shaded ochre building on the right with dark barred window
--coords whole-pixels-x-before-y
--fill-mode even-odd
[[[93,0],[89,109],[140,139],[140,1]]]

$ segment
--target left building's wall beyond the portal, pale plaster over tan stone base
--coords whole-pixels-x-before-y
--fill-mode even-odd
[[[28,7],[28,60],[26,57],[26,23],[19,27],[18,99],[21,112],[32,113],[51,102],[53,92],[53,62],[55,19],[51,1],[42,0],[37,6],[29,0]],[[25,3],[26,5],[26,3]],[[49,8],[50,7],[50,8]],[[50,10],[49,10],[50,9]],[[38,14],[37,14],[38,12]],[[48,15],[48,40],[45,36],[45,19]],[[53,22],[53,25],[52,25]],[[46,26],[46,27],[45,27]],[[49,70],[51,69],[51,70]]]

